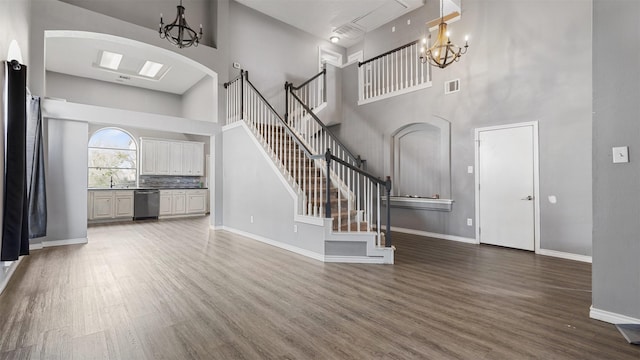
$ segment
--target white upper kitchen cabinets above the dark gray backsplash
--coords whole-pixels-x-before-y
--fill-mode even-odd
[[[140,138],[140,175],[204,175],[204,143]]]

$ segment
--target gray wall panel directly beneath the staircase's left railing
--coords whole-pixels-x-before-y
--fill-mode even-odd
[[[249,133],[235,127],[226,130],[223,138],[224,225],[324,254],[324,228],[294,222],[294,202],[287,185]],[[297,233],[293,232],[294,224]]]

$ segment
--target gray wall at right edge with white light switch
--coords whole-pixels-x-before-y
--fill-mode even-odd
[[[593,307],[640,319],[640,3],[593,4]]]

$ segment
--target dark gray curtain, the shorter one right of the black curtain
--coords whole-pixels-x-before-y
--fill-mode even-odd
[[[47,191],[44,176],[40,97],[27,96],[27,198],[29,239],[47,235]]]

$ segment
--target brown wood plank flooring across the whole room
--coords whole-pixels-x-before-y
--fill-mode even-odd
[[[323,264],[208,218],[89,228],[0,296],[0,359],[640,359],[589,319],[591,266],[394,234]]]

